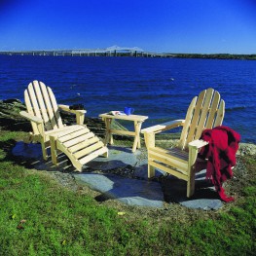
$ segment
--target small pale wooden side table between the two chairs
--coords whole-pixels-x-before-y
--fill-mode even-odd
[[[111,115],[108,113],[100,114],[100,118],[106,124],[106,137],[105,137],[105,145],[106,144],[113,144],[113,136],[112,134],[123,134],[128,136],[134,136],[134,143],[132,146],[132,152],[136,151],[136,148],[140,148],[140,129],[142,123],[148,119],[147,116],[138,116],[138,115]],[[111,128],[112,120],[119,119],[119,120],[126,120],[126,121],[133,121],[134,122],[134,131],[130,130],[122,130],[122,129],[113,129]]]

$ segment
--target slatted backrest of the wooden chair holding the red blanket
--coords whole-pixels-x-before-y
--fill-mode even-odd
[[[220,94],[213,89],[201,91],[193,98],[181,132],[178,147],[187,149],[188,143],[199,139],[204,128],[221,126],[224,118],[225,103]]]

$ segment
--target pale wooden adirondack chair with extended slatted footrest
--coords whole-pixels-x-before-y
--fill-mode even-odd
[[[51,145],[52,161],[57,165],[57,150],[62,151],[72,164],[82,170],[83,165],[99,155],[107,157],[108,149],[89,128],[84,126],[86,110],[70,110],[67,105],[57,105],[51,88],[33,81],[24,91],[27,112],[19,114],[31,122],[32,140],[42,145],[43,158],[48,159],[47,148]],[[76,115],[77,125],[64,126],[59,110]]]

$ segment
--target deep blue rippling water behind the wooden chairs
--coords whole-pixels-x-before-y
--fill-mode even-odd
[[[226,102],[225,126],[256,143],[256,61],[0,55],[0,99],[19,98],[33,80],[50,86],[58,103],[85,105],[89,117],[135,109],[143,128],[185,118],[194,95],[212,87]]]

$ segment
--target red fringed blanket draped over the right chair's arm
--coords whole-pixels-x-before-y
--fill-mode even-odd
[[[236,165],[240,135],[232,128],[221,126],[203,130],[201,139],[209,142],[199,154],[201,158],[208,159],[206,178],[211,179],[223,201],[234,201],[234,198],[226,196],[222,183],[233,176],[232,166]]]

